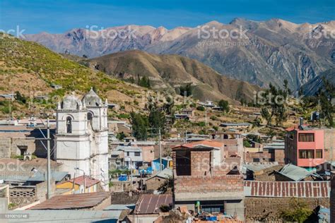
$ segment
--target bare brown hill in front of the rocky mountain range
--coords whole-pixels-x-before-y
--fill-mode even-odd
[[[87,64],[88,63],[88,64]],[[191,84],[194,98],[201,100],[251,101],[257,85],[227,78],[212,68],[185,56],[149,54],[130,50],[100,56],[86,61],[93,69],[107,73],[112,78],[135,80],[146,76],[154,90],[175,91]]]

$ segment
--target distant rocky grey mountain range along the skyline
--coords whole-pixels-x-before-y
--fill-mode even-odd
[[[132,49],[177,54],[261,87],[282,86],[286,79],[293,91],[335,66],[335,21],[295,24],[236,18],[229,24],[212,21],[196,28],[125,25],[104,30],[76,28],[63,34],[42,32],[25,38],[55,52],[90,58]]]

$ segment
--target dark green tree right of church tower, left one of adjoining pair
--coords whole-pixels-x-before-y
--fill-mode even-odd
[[[131,125],[133,128],[133,135],[138,140],[146,140],[148,138],[148,118],[145,115],[131,112]]]

